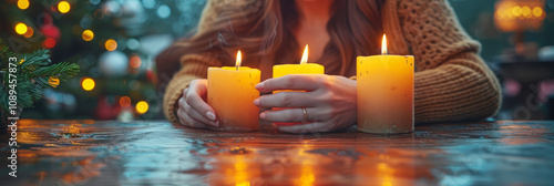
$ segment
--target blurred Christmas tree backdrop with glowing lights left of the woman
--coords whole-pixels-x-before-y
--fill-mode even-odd
[[[16,53],[50,49],[81,72],[22,117],[158,118],[154,58],[196,27],[205,0],[3,0],[0,38]],[[2,63],[7,63],[2,61]],[[122,114],[125,113],[125,114]],[[131,113],[131,114],[130,114]]]

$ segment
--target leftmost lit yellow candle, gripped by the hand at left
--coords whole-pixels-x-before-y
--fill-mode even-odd
[[[259,92],[254,87],[259,83],[260,71],[240,66],[240,51],[235,66],[209,68],[207,72],[207,102],[219,122],[215,131],[256,131],[259,128],[259,108],[254,100]]]

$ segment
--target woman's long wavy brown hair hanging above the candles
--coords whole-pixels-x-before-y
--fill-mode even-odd
[[[327,23],[330,41],[318,61],[336,64],[335,69],[326,68],[328,74],[353,75],[356,56],[378,53],[382,34],[381,4],[382,0],[335,1]],[[234,65],[238,49],[248,54],[250,60],[243,60],[243,64],[248,66],[299,61],[301,50],[291,34],[298,18],[294,0],[248,0],[242,6],[226,6],[216,13],[218,17],[215,20],[203,25],[206,29],[172,46],[173,59],[162,62],[158,56],[158,73],[160,65],[171,65],[160,63],[176,62],[182,55],[191,53],[209,52],[223,65]]]

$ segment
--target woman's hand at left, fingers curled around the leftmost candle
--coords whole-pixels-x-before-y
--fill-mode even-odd
[[[219,126],[214,108],[206,103],[207,80],[193,80],[178,100],[177,117],[191,127]]]

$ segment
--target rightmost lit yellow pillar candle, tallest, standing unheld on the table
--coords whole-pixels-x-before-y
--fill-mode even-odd
[[[413,132],[413,56],[358,56],[358,130],[366,133]]]

